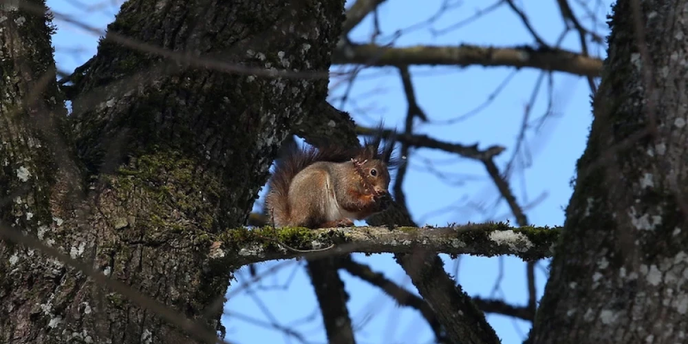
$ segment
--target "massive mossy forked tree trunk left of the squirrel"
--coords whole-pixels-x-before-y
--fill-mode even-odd
[[[343,1],[129,0],[73,78],[67,127],[45,74],[54,61],[36,15],[43,3],[32,3],[0,9],[0,230],[22,230],[133,296],[220,329],[217,301],[234,267],[217,264],[207,234],[244,223],[279,143],[327,93],[326,74],[261,75],[326,73]],[[34,106],[28,95],[45,75]],[[0,241],[0,276],[0,314],[12,314],[0,316],[3,343],[200,338],[10,240]]]

